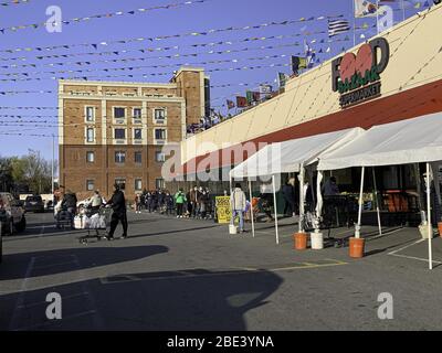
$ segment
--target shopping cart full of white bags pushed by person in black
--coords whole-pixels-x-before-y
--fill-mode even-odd
[[[88,210],[83,216],[84,224],[80,227],[80,231],[85,231],[87,234],[78,238],[80,243],[87,244],[91,238],[99,242],[110,225],[112,212],[110,207],[101,207],[97,212]]]

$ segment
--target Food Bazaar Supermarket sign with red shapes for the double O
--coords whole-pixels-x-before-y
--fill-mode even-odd
[[[379,97],[380,74],[389,61],[390,45],[383,38],[364,44],[357,55],[347,53],[335,58],[332,62],[333,90],[340,94],[340,107]]]

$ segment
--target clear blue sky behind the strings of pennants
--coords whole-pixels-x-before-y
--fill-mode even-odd
[[[29,3],[11,4],[9,7],[0,7],[0,29],[12,25],[23,25],[30,23],[41,23],[48,20],[45,14],[46,8],[50,6],[59,6],[62,10],[63,20],[73,18],[88,17],[93,14],[116,12],[116,11],[130,11],[139,8],[150,8],[155,6],[178,3],[183,0],[125,0],[125,1],[108,1],[108,0],[29,0]],[[0,2],[12,2],[12,0],[0,0]],[[399,0],[398,0],[399,2]],[[417,2],[417,1],[411,1]],[[422,4],[425,1],[422,1]],[[398,7],[398,4],[394,4]],[[77,43],[101,43],[103,41],[126,40],[133,38],[151,38],[159,35],[171,35],[187,32],[201,32],[211,29],[221,29],[229,26],[246,26],[269,23],[272,21],[281,22],[285,20],[297,20],[299,18],[322,17],[322,15],[344,15],[352,23],[352,4],[351,0],[210,0],[207,3],[197,3],[193,6],[180,7],[169,10],[157,10],[145,12],[136,15],[114,17],[106,19],[96,19],[91,21],[83,21],[80,23],[63,25],[61,33],[49,33],[44,28],[19,30],[17,32],[6,31],[4,34],[0,33],[0,51],[17,47],[38,47],[49,45],[70,45]],[[407,17],[413,14],[417,10],[409,6]],[[396,12],[396,21],[402,19],[400,11]],[[373,19],[358,20],[357,24],[362,23],[373,24]],[[36,67],[17,67],[17,68],[0,68],[0,79],[11,78],[4,76],[8,73],[27,73],[27,72],[51,72],[61,69],[96,69],[93,73],[77,74],[80,76],[105,76],[105,75],[125,75],[131,74],[134,77],[118,77],[115,81],[139,81],[139,82],[167,82],[173,69],[177,69],[179,63],[199,63],[212,60],[239,60],[238,63],[222,63],[222,64],[207,64],[200,65],[207,69],[213,68],[229,68],[239,66],[256,66],[271,64],[287,64],[290,63],[290,55],[303,51],[303,46],[295,46],[295,42],[303,42],[304,40],[312,41],[328,39],[327,34],[322,35],[305,35],[308,32],[326,31],[327,21],[307,21],[299,22],[291,25],[269,26],[259,30],[248,31],[229,31],[206,36],[186,36],[173,40],[164,40],[155,42],[138,42],[130,44],[113,44],[107,46],[94,47],[72,47],[61,49],[48,52],[30,52],[30,53],[1,53],[1,58],[11,58],[24,56],[27,61],[0,61],[0,66],[11,64],[29,64],[35,63]],[[360,34],[365,33],[368,36],[373,35],[376,30],[370,29],[367,31],[358,31],[357,38],[359,41]],[[240,40],[252,36],[272,36],[272,35],[294,35],[301,34],[297,38],[284,38],[280,40],[257,41],[236,43],[231,45],[219,45],[215,47],[192,47],[196,43],[211,43],[211,42],[238,42]],[[347,34],[349,41],[332,43],[332,44],[312,44],[311,46],[318,52],[323,49],[324,54],[318,54],[318,57],[324,61],[339,52],[343,47],[352,46],[352,33]],[[341,34],[336,39],[344,40],[346,34]],[[137,52],[139,49],[146,47],[165,47],[179,45],[180,50],[161,51],[156,53],[141,53]],[[197,57],[183,57],[181,60],[167,60],[167,58],[149,58],[146,61],[136,61],[127,63],[92,63],[91,65],[63,65],[51,68],[48,66],[50,63],[60,62],[85,62],[98,61],[104,58],[124,58],[124,57],[144,57],[172,55],[172,54],[189,54],[189,53],[207,53],[210,50],[225,51],[225,50],[240,50],[240,49],[256,49],[259,46],[277,46],[269,50],[249,50],[240,53],[223,53],[221,55],[213,54],[199,54]],[[286,45],[282,47],[282,45]],[[330,47],[329,53],[325,53],[327,47]],[[86,53],[102,51],[122,51],[131,50],[134,52],[119,55],[84,55],[70,58],[45,58],[38,60],[39,55],[53,55],[53,54],[72,54],[72,53]],[[266,55],[287,55],[286,57],[272,57],[260,61],[250,61],[251,57],[262,57]],[[104,72],[104,68],[129,67],[141,65],[170,65],[170,67],[159,68],[144,68],[134,71],[122,72]],[[168,76],[151,76],[148,78],[143,75],[155,73],[170,72]],[[290,67],[266,67],[254,71],[221,71],[209,73],[212,85],[232,84],[231,87],[213,88],[212,89],[212,106],[215,109],[225,103],[225,98],[234,98],[235,94],[245,93],[246,88],[241,87],[240,83],[259,83],[259,82],[273,82],[277,72],[290,73]],[[48,78],[54,76],[53,74],[32,74],[29,76],[19,77],[42,77]],[[63,74],[57,74],[63,76]],[[106,78],[104,78],[106,79]],[[107,78],[108,79],[108,78]],[[51,79],[30,81],[30,82],[0,82],[0,92],[3,90],[56,90],[56,82]],[[0,107],[56,107],[56,94],[20,94],[20,95],[0,95]],[[42,126],[35,128],[35,122],[24,122],[22,127],[6,126],[15,125],[19,121],[15,117],[2,117],[2,115],[22,115],[24,121],[51,121],[56,124],[56,118],[52,117],[56,110],[20,110],[20,109],[0,109],[0,132],[21,132],[24,136],[6,136],[0,135],[0,156],[21,156],[27,153],[28,149],[38,149],[46,158],[52,156],[52,139],[43,137],[32,137],[31,133],[56,135],[55,127]],[[36,117],[36,116],[49,117]],[[8,122],[6,122],[8,121]]]

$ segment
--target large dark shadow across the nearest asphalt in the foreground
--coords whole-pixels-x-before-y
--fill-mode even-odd
[[[15,313],[13,330],[148,330],[245,331],[245,315],[270,303],[282,278],[269,271],[212,271],[203,269],[145,272],[93,279],[25,292],[25,302],[43,301]],[[87,300],[63,299],[63,319],[48,321],[44,298],[57,292],[64,298],[86,288]],[[0,297],[14,303],[19,293]],[[11,311],[11,308],[7,308]],[[86,312],[78,315],[78,312]],[[90,314],[87,314],[90,312]],[[262,317],[265,328],[265,317]],[[3,321],[3,322],[1,322]],[[0,320],[0,329],[10,320]]]

